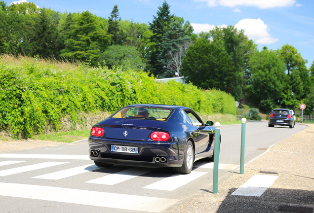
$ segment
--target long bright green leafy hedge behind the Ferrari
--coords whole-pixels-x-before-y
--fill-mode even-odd
[[[173,80],[155,81],[130,68],[92,68],[87,63],[31,57],[0,57],[0,129],[18,138],[61,129],[61,118],[113,113],[131,104],[188,106],[202,114],[232,114],[235,99],[219,90],[203,91]]]

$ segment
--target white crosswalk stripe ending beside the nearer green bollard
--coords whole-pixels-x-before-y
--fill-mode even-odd
[[[143,188],[173,191],[174,189],[179,188],[180,186],[183,186],[191,182],[192,180],[195,180],[196,178],[205,175],[206,173],[207,172],[191,172],[188,175],[173,175]]]

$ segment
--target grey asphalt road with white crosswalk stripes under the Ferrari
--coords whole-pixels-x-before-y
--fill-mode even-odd
[[[246,124],[245,163],[305,129]],[[219,181],[238,171],[241,125],[221,126]],[[211,190],[213,163],[197,161],[189,175],[171,169],[96,167],[87,143],[0,153],[1,213],[165,213]]]

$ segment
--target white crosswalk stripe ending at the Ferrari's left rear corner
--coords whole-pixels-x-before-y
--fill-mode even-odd
[[[41,176],[36,176],[33,178],[58,180],[58,179],[62,179],[62,178],[69,178],[71,176],[83,174],[83,173],[90,172],[90,171],[97,170],[97,169],[100,169],[100,167],[96,166],[95,164],[87,164],[84,166],[79,166],[79,167],[75,167],[75,168],[71,168],[71,169],[61,170],[58,172],[49,173],[49,174],[45,174],[45,175],[41,175]]]

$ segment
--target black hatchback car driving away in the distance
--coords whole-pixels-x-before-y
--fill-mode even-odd
[[[294,127],[294,119],[291,111],[289,109],[275,108],[271,112],[271,116],[268,121],[269,127],[279,126],[289,126]]]

